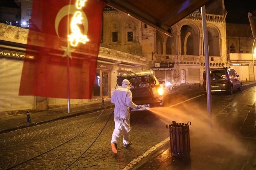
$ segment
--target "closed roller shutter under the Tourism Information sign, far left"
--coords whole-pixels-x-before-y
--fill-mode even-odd
[[[23,61],[0,59],[0,110],[35,109],[35,96],[19,96]]]

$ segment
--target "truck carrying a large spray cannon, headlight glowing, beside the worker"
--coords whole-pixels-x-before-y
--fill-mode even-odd
[[[130,87],[133,102],[142,108],[157,107],[163,105],[164,94],[153,70],[141,70],[138,72],[127,71],[117,76],[117,84],[122,85],[123,80],[132,83]]]

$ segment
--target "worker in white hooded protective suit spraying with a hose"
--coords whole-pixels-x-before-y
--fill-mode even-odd
[[[131,145],[129,139],[130,127],[130,107],[139,109],[138,105],[132,102],[132,94],[130,90],[131,83],[129,80],[123,80],[122,87],[112,92],[111,103],[115,104],[114,121],[115,129],[112,134],[111,147],[114,153],[117,153],[118,138],[123,133],[123,145],[127,147]]]

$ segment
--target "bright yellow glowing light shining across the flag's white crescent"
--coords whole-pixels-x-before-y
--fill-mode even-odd
[[[78,9],[81,9],[85,6],[85,0],[78,0],[76,1],[76,7]],[[83,35],[81,33],[80,28],[78,27],[78,24],[82,24],[82,13],[80,11],[76,11],[74,13],[74,16],[71,21],[71,31],[72,34],[68,35],[68,41],[70,41],[71,46],[77,46],[78,42],[82,42],[85,44],[85,42],[88,42],[89,39],[87,38],[87,35]]]

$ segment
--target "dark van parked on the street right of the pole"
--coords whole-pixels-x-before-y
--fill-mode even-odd
[[[210,69],[211,92],[226,91],[232,95],[233,90],[242,90],[242,82],[237,72],[230,67]],[[203,85],[206,93],[206,74],[203,74]]]

